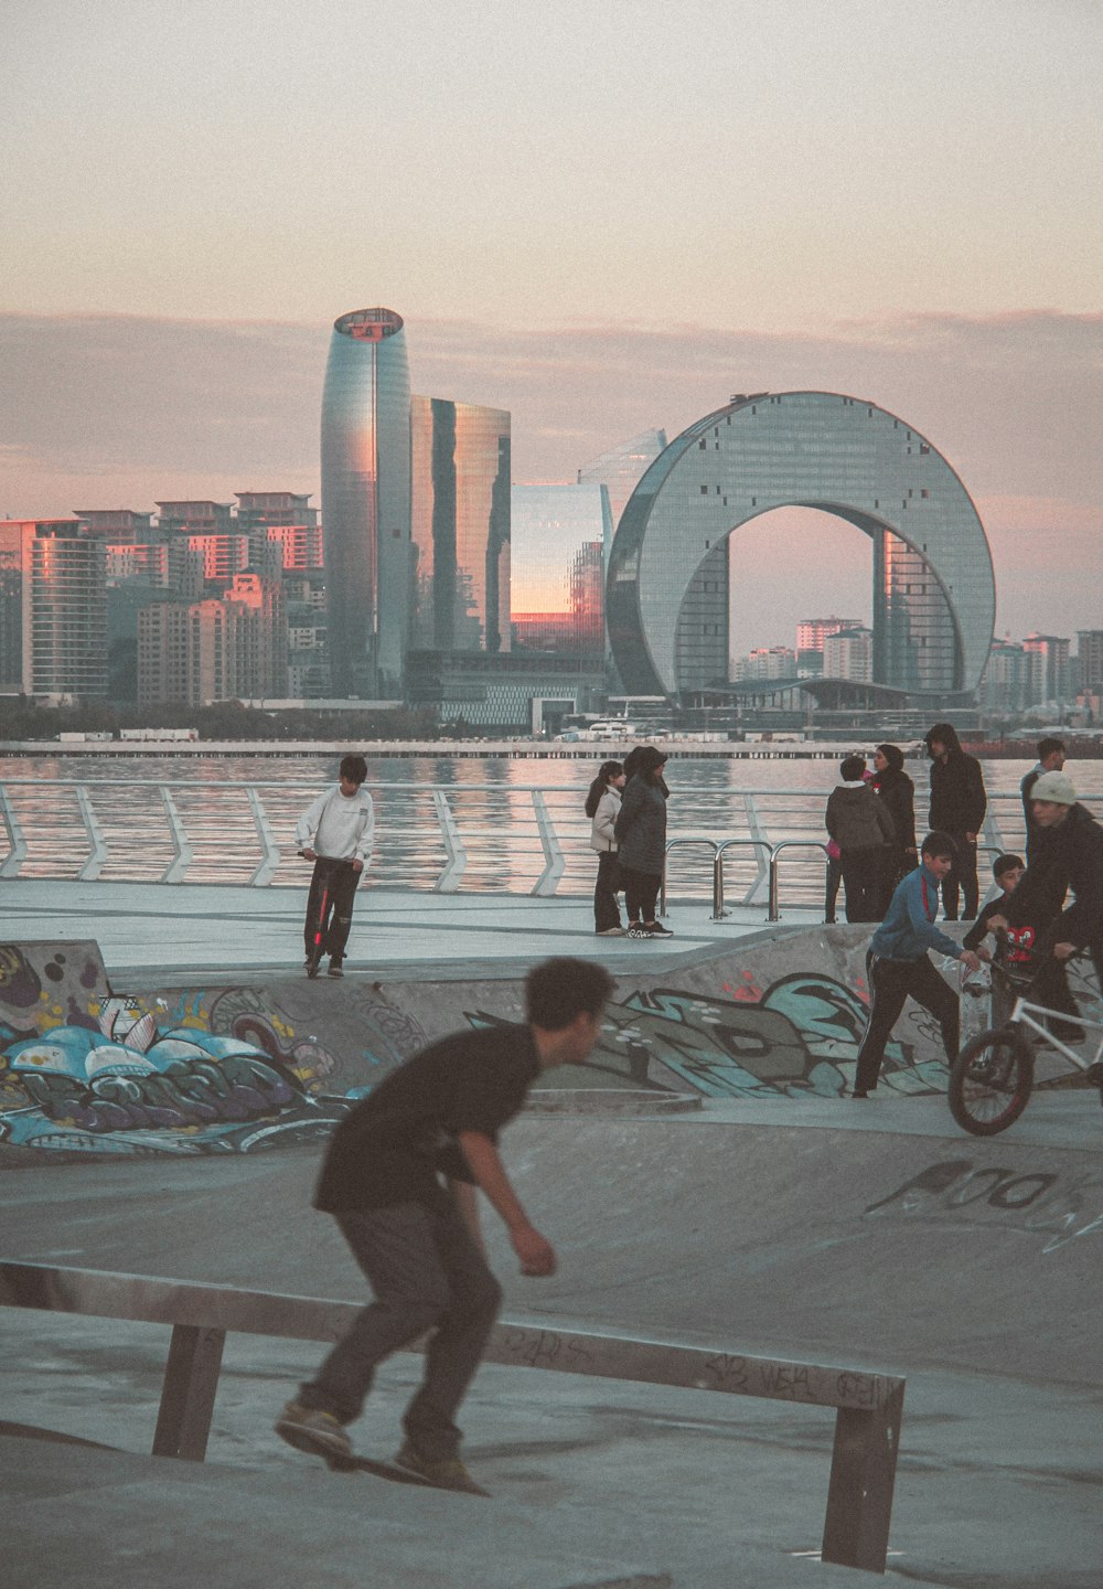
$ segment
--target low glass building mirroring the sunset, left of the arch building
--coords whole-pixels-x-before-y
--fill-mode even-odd
[[[513,640],[529,650],[601,655],[602,569],[612,540],[604,485],[513,486],[510,507]],[[601,550],[594,550],[601,548]],[[594,615],[601,605],[601,621]]]

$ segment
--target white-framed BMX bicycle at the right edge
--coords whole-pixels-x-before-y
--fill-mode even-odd
[[[1103,1020],[1066,1015],[1065,1011],[1058,1012],[1044,1004],[1033,1004],[1027,996],[1033,979],[1016,976],[998,961],[992,963],[992,974],[1000,977],[1009,992],[1016,993],[1011,1015],[1001,1026],[977,1033],[965,1044],[950,1066],[950,1114],[962,1130],[973,1136],[997,1136],[998,1131],[1006,1131],[1027,1108],[1035,1085],[1035,1044],[1031,1038],[1063,1054],[1076,1069],[1084,1071],[1103,1087]],[[1066,1042],[1055,1038],[1046,1025],[1047,1020],[1081,1026],[1086,1036],[1098,1036],[1090,1058],[1076,1054]],[[1103,1095],[1100,1101],[1103,1101]]]

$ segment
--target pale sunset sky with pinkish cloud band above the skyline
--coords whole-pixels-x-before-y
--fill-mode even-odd
[[[316,493],[380,303],[517,480],[876,402],[973,496],[998,634],[1103,628],[1103,0],[8,0],[0,49],[0,515]],[[868,617],[823,515],[734,567],[745,647]]]

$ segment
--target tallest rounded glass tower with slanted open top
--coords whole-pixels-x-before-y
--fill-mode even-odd
[[[329,667],[340,696],[397,699],[410,626],[410,370],[402,316],[334,321],[321,402]]]

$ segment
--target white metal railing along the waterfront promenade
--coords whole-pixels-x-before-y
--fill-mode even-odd
[[[373,782],[370,790],[377,885],[537,896],[593,890],[577,788],[472,780]],[[275,780],[8,779],[0,783],[0,879],[302,885],[294,828],[312,794],[313,787]],[[823,806],[820,791],[679,788],[663,904],[710,893],[715,920],[728,914],[726,895],[764,906],[768,920],[777,920],[782,890],[787,904],[820,904]],[[982,852],[1020,845],[1019,796],[990,794]]]

